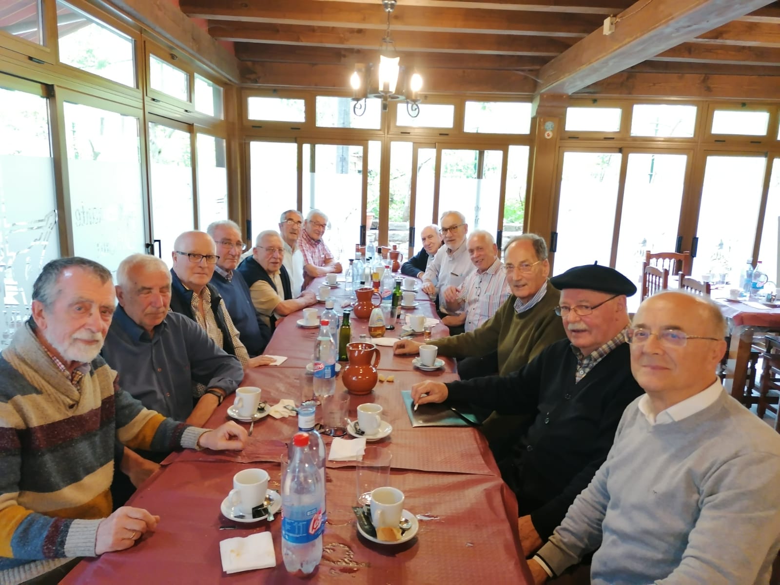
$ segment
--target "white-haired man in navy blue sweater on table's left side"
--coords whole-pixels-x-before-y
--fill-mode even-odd
[[[214,239],[219,257],[209,284],[217,289],[225,301],[225,307],[250,357],[259,356],[271,340],[271,328],[255,310],[249,286],[236,270],[244,246],[241,229],[236,222],[224,219],[211,223],[206,233]],[[271,361],[269,358],[265,360],[269,363]]]

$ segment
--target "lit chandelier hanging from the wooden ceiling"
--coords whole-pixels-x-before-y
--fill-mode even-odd
[[[399,65],[400,57],[395,51],[395,43],[390,36],[390,15],[395,10],[396,0],[382,0],[382,7],[388,15],[388,27],[385,37],[379,48],[378,84],[373,83],[371,72],[374,69],[372,63],[368,63],[362,74],[357,69],[352,74],[349,83],[352,85],[352,100],[355,102],[352,111],[355,115],[363,115],[366,112],[366,100],[368,97],[376,97],[382,101],[382,112],[388,111],[391,101],[406,101],[406,112],[412,118],[420,115],[420,89],[423,87],[423,78],[416,71],[407,79],[405,70]],[[403,89],[396,91],[399,78],[403,80]]]

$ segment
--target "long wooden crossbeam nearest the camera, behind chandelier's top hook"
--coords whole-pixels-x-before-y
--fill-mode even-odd
[[[192,18],[209,20],[377,30],[387,27],[386,13],[378,2],[375,8],[368,9],[366,5],[353,2],[317,0],[181,0],[179,7]],[[398,5],[390,20],[393,37],[396,31],[401,30],[584,37],[599,27],[604,19],[591,14],[561,18],[548,12]]]

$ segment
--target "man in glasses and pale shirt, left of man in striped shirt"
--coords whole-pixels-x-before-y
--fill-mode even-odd
[[[423,292],[434,298],[439,298],[439,314],[444,317],[449,314],[441,300],[441,293],[449,286],[458,287],[474,270],[468,250],[466,250],[466,234],[469,225],[460,211],[445,211],[441,214],[441,237],[444,245],[438,249],[434,260],[425,269],[423,277]]]

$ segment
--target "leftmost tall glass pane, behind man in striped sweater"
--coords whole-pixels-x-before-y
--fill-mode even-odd
[[[33,282],[59,256],[46,99],[0,87],[0,349],[30,316]]]

